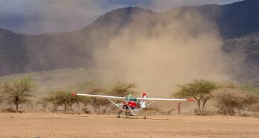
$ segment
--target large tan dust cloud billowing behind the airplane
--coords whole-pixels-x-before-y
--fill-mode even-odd
[[[135,81],[150,96],[170,96],[177,84],[194,79],[228,80],[221,45],[214,23],[197,13],[143,13],[94,57],[106,78]]]

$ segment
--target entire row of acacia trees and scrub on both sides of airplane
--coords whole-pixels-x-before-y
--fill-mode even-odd
[[[84,93],[109,95],[109,96],[137,96],[137,84],[135,82],[117,81],[110,86],[102,85],[97,81],[88,81],[80,85]],[[65,88],[48,91],[45,96],[33,95],[33,91],[39,88],[31,76],[20,76],[1,82],[0,102],[8,105],[15,113],[21,112],[22,105],[33,110],[43,112],[62,113],[115,113],[109,100],[99,98],[87,98],[73,96],[75,91]],[[177,85],[178,91],[172,93],[177,98],[192,98],[197,103],[194,109],[196,115],[258,115],[259,90],[248,84],[234,84],[231,82],[217,83],[209,80],[194,80],[187,84]],[[79,88],[80,89],[80,88]],[[214,101],[216,107],[208,111],[206,103]],[[216,102],[215,102],[216,101]],[[92,108],[92,110],[89,108]],[[24,109],[24,108],[23,108]]]

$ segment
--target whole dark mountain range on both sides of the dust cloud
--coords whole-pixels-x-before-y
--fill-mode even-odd
[[[224,39],[224,51],[245,53],[242,69],[235,70],[237,78],[258,82],[258,33],[259,1],[245,0],[228,5],[203,5],[173,8],[170,11],[153,12],[143,8],[119,8],[100,16],[97,21],[81,30],[43,35],[23,35],[0,29],[0,76],[30,71],[94,67],[96,47],[105,48],[117,35],[140,14],[150,21],[171,18],[187,12],[199,13],[206,21],[214,22]],[[142,18],[138,19],[143,20]],[[152,28],[149,23],[146,29]],[[101,33],[100,33],[101,32]],[[247,75],[249,74],[249,75]]]

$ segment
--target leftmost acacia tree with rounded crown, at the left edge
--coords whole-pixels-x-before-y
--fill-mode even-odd
[[[9,104],[14,104],[16,113],[18,113],[18,105],[26,103],[32,96],[31,91],[35,88],[30,76],[23,76],[18,79],[4,82],[2,93],[5,100]]]

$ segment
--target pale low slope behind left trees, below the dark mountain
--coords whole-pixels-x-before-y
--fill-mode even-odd
[[[46,92],[53,91],[55,89],[82,91],[79,89],[82,87],[82,85],[86,84],[87,82],[99,82],[99,80],[101,80],[101,76],[104,74],[105,71],[97,69],[54,69],[51,71],[35,71],[31,73],[1,76],[0,84],[4,81],[16,79],[21,76],[31,76],[33,82],[36,85],[36,89],[33,91],[33,94],[38,97],[45,95]]]

